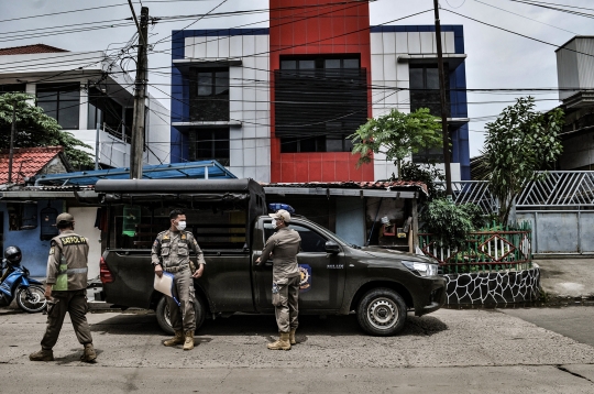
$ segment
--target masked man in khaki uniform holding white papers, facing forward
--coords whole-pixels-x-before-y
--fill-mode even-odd
[[[194,310],[193,278],[202,276],[205,258],[198,242],[186,228],[186,215],[180,209],[169,214],[170,227],[160,232],[151,252],[155,274],[163,275],[163,271],[174,274],[175,286],[179,298],[178,306],[172,297],[167,297],[169,318],[175,336],[163,342],[165,346],[184,343],[184,350],[194,349],[194,331],[196,330],[196,314]],[[196,254],[198,269],[190,261],[190,250]]]

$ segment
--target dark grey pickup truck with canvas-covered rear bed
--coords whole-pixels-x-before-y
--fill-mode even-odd
[[[272,261],[255,265],[273,233],[257,183],[99,180],[96,190],[109,211],[108,243],[116,243],[116,248],[108,245],[100,262],[107,303],[155,309],[160,326],[173,332],[164,297],[153,289],[150,245],[167,228],[169,209],[184,207],[188,230],[207,262],[204,276],[195,281],[197,327],[218,315],[273,313]],[[431,259],[353,245],[299,216],[292,219],[290,228],[301,237],[300,314],[355,311],[367,333],[393,336],[404,327],[407,310],[421,316],[446,302],[446,281]]]

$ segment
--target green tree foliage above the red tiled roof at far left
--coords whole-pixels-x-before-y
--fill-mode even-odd
[[[12,128],[12,108],[16,109],[16,133],[14,147],[38,147],[62,145],[68,161],[75,168],[94,165],[89,154],[79,147],[91,149],[63,131],[57,121],[44,113],[43,109],[33,106],[34,97],[21,92],[0,95],[0,149],[10,149]]]

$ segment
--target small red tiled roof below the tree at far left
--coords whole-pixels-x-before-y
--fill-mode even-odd
[[[61,152],[62,146],[48,147],[16,147],[12,155],[12,183],[24,184],[24,177],[33,177]],[[8,183],[9,172],[8,150],[0,152],[0,184]]]

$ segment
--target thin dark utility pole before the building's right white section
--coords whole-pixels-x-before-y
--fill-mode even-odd
[[[439,0],[433,0],[436,11],[436,42],[439,67],[439,98],[441,103],[441,133],[443,135],[443,164],[446,167],[446,197],[452,197],[452,168],[450,165],[450,132],[448,131],[448,107],[446,100],[446,76],[443,74],[443,50],[441,47],[441,23],[439,21]]]

